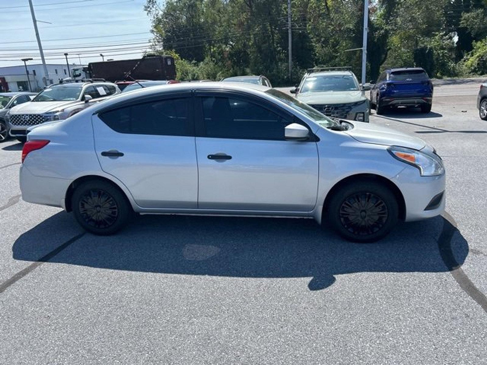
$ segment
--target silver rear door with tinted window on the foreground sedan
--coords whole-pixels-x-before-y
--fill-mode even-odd
[[[198,170],[190,93],[102,111],[92,118],[103,171],[146,208],[196,208]]]

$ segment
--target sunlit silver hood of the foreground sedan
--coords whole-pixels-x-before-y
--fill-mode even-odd
[[[385,146],[401,146],[418,150],[426,146],[426,143],[422,139],[391,128],[363,122],[347,122],[352,123],[355,128],[347,130],[345,133],[359,142]]]

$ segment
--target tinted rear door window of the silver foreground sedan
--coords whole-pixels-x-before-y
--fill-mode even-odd
[[[159,100],[119,108],[99,115],[119,133],[189,136],[189,98]]]

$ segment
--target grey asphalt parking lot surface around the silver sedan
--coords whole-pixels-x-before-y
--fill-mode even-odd
[[[313,220],[141,216],[111,237],[21,200],[0,145],[0,364],[483,364],[487,122],[479,80],[372,115],[447,169],[444,217],[374,244]]]

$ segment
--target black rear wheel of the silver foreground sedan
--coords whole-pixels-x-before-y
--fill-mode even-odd
[[[111,183],[101,180],[87,181],[76,187],[72,207],[77,222],[88,232],[100,236],[120,231],[132,213],[125,195]]]

